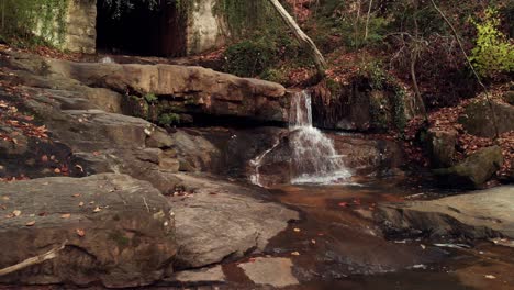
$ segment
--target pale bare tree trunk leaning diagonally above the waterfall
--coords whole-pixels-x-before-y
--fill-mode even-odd
[[[294,36],[300,42],[300,44],[302,46],[304,46],[305,49],[308,49],[309,53],[311,54],[311,57],[314,60],[314,64],[316,65],[317,75],[320,77],[324,77],[325,76],[325,69],[326,69],[326,62],[325,62],[325,58],[323,57],[323,55],[317,49],[314,42],[302,31],[302,29],[300,29],[300,26],[297,24],[297,22],[291,18],[291,15],[282,7],[282,4],[280,4],[280,2],[278,0],[269,0],[269,1],[275,7],[275,10],[277,10],[277,12],[280,14],[283,22],[294,33]]]

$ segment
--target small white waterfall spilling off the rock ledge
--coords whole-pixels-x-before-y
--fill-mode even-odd
[[[334,183],[347,180],[350,171],[334,143],[312,125],[311,94],[294,93],[289,116],[291,183]]]

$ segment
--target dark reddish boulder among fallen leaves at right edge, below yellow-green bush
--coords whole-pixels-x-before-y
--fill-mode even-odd
[[[494,116],[496,119],[500,134],[514,130],[514,107],[494,102],[492,103]],[[495,129],[493,122],[493,111],[484,100],[476,101],[466,107],[465,114],[459,116],[465,130],[476,136],[494,137]]]

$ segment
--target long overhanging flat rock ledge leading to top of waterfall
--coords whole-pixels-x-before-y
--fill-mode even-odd
[[[43,82],[71,79],[78,81],[76,86],[105,88],[121,94],[155,94],[158,97],[157,114],[288,122],[289,101],[282,86],[202,67],[72,63],[25,55],[13,55],[10,65],[16,69],[41,71],[46,76]]]

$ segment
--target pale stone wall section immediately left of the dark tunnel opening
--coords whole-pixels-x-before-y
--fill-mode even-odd
[[[97,51],[97,0],[69,0],[65,49],[94,54]]]

